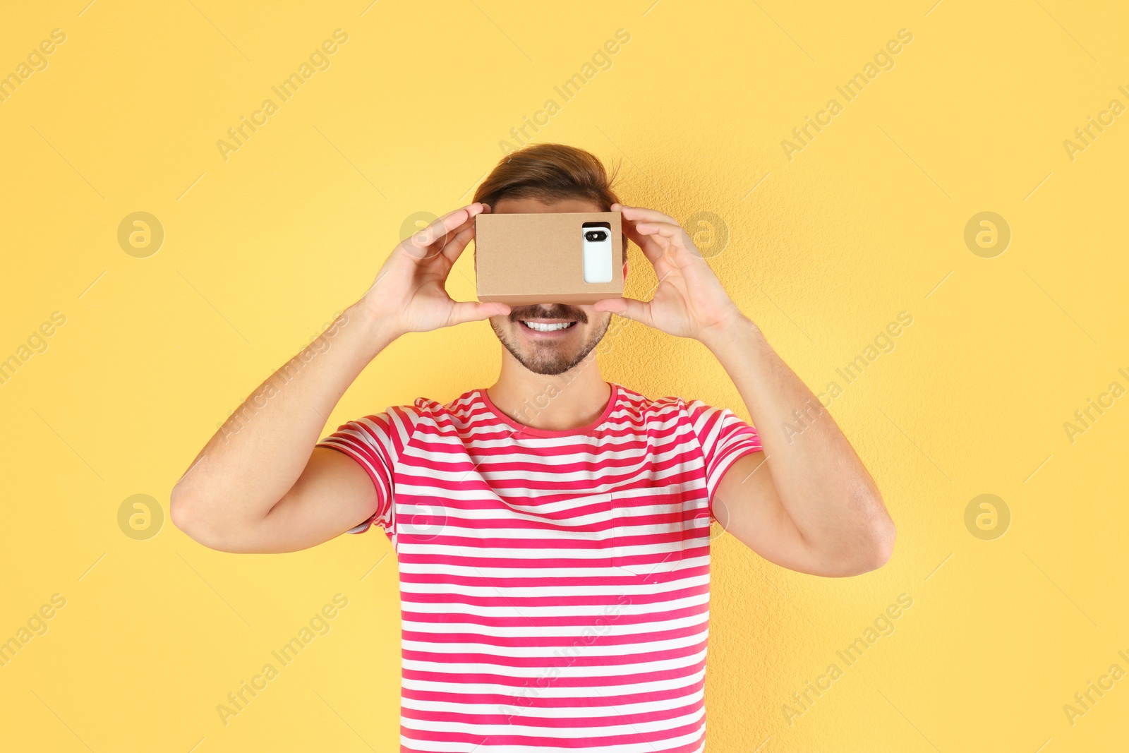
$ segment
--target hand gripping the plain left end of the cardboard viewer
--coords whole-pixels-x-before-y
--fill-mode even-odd
[[[361,304],[394,323],[396,335],[509,314],[506,304],[452,300],[445,287],[455,261],[474,238],[475,216],[489,211],[489,205],[473,203],[401,240]]]

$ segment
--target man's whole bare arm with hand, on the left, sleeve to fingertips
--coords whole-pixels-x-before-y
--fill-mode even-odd
[[[371,516],[368,474],[315,445],[344,391],[397,336],[509,313],[504,304],[454,301],[444,287],[482,211],[464,207],[397,245],[361,300],[231,414],[173,489],[178,528],[221,551],[289,552]]]

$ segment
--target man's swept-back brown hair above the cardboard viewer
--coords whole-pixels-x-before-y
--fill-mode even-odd
[[[589,151],[563,143],[534,143],[502,157],[474,192],[474,201],[490,204],[502,198],[533,198],[542,202],[587,199],[611,211],[620,199],[603,163]]]

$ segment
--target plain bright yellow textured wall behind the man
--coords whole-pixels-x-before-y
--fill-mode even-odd
[[[1062,146],[1129,105],[1122,3],[86,2],[10,5],[0,34],[0,72],[67,34],[0,103],[0,358],[67,317],[0,385],[0,639],[67,599],[0,668],[0,747],[396,750],[383,535],[222,554],[170,525],[168,493],[360,296],[405,218],[466,203],[549,98],[536,139],[621,163],[627,203],[721,218],[717,273],[813,388],[913,317],[831,409],[898,524],[894,557],[821,579],[716,541],[709,750],[1126,747],[1129,680],[1074,725],[1062,709],[1111,664],[1129,671],[1129,397],[1073,444],[1062,427],[1129,387],[1129,115],[1074,160]],[[225,161],[217,140],[336,28],[331,68]],[[612,67],[562,102],[553,87],[620,28]],[[902,28],[895,67],[789,161],[781,140]],[[165,228],[147,259],[116,240],[134,211]],[[981,211],[1012,229],[994,259],[963,240]],[[654,274],[630,253],[641,296]],[[450,292],[472,298],[470,254],[456,270]],[[747,418],[694,342],[631,325],[602,361],[645,394]],[[403,338],[327,430],[488,386],[498,364],[485,323]],[[135,493],[165,511],[147,541],[117,525]],[[995,541],[964,525],[981,493],[1012,513]],[[331,632],[225,726],[216,706],[338,593]],[[791,694],[903,593],[896,630],[789,724]]]

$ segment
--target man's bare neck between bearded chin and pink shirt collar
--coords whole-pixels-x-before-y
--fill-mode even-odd
[[[596,351],[563,374],[534,374],[502,348],[501,373],[487,393],[506,415],[533,429],[567,431],[592,423],[611,400]]]

